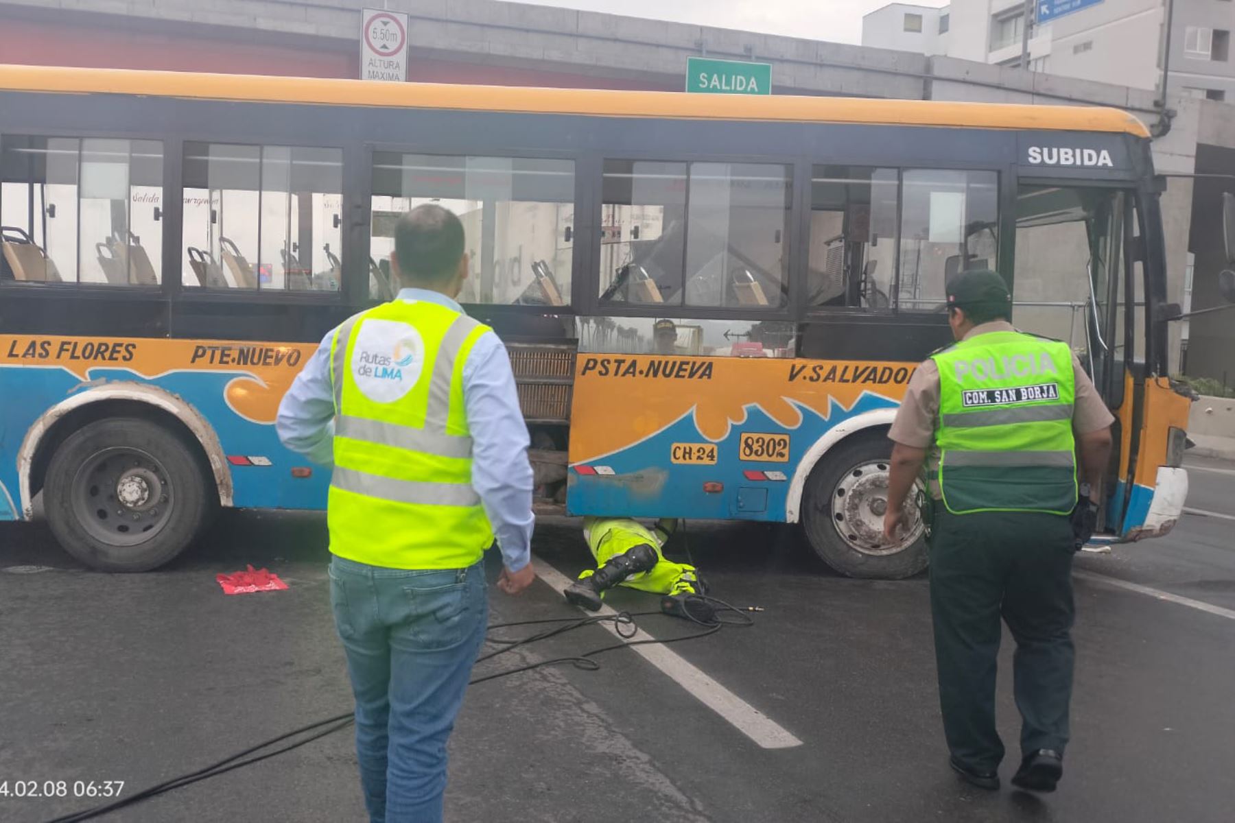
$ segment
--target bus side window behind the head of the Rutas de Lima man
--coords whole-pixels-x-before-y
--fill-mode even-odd
[[[395,225],[422,204],[463,222],[462,304],[568,306],[574,259],[574,162],[374,152],[369,297],[398,294]]]

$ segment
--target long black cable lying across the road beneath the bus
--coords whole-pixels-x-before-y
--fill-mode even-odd
[[[689,552],[689,549],[688,549],[688,552]],[[638,626],[636,626],[636,623],[635,623],[635,618],[636,617],[647,617],[647,616],[651,616],[651,614],[661,614],[659,611],[618,612],[615,614],[595,614],[595,616],[592,616],[592,617],[582,617],[582,618],[580,617],[552,617],[552,618],[537,619],[537,621],[514,621],[514,622],[509,622],[509,623],[493,623],[492,626],[489,626],[485,629],[487,634],[489,632],[493,632],[494,629],[515,628],[515,627],[519,627],[519,626],[547,626],[547,624],[557,624],[557,626],[555,628],[548,628],[548,629],[545,629],[542,632],[537,632],[536,634],[531,634],[529,637],[517,638],[517,639],[488,638],[487,637],[485,642],[501,645],[501,648],[496,649],[494,651],[489,651],[488,654],[480,655],[479,658],[477,658],[477,660],[475,660],[477,663],[483,663],[485,660],[492,660],[493,658],[498,656],[499,654],[505,654],[508,651],[513,651],[513,650],[515,650],[517,648],[529,645],[531,643],[540,643],[542,640],[547,640],[547,639],[553,638],[553,637],[559,637],[559,635],[566,634],[568,632],[574,632],[577,629],[580,629],[580,628],[583,628],[585,626],[595,626],[595,624],[606,623],[606,622],[614,624],[614,631],[618,633],[618,635],[620,638],[622,638],[622,640],[620,643],[614,643],[611,645],[604,645],[604,647],[600,647],[598,649],[592,649],[590,651],[584,651],[580,655],[567,656],[567,658],[555,658],[552,660],[541,660],[538,663],[532,663],[532,664],[529,664],[529,665],[525,665],[525,666],[517,666],[515,669],[505,669],[503,671],[496,671],[496,672],[490,674],[490,675],[482,675],[479,677],[473,677],[472,680],[468,681],[468,685],[482,684],[482,682],[487,682],[487,681],[490,681],[490,680],[498,680],[499,677],[509,677],[510,675],[516,675],[516,674],[520,674],[520,672],[524,672],[524,671],[531,671],[532,669],[542,669],[545,666],[563,665],[563,664],[567,664],[567,663],[569,663],[571,665],[573,665],[576,669],[580,669],[583,671],[597,671],[598,669],[600,669],[600,663],[598,663],[594,659],[595,655],[598,655],[598,654],[604,654],[606,651],[613,651],[615,649],[624,649],[624,648],[629,648],[629,647],[634,647],[634,645],[645,645],[645,644],[656,644],[656,643],[668,644],[668,643],[679,643],[682,640],[694,640],[694,639],[698,639],[698,638],[708,637],[709,634],[715,634],[720,629],[725,628],[726,626],[745,628],[745,627],[755,624],[755,621],[750,617],[750,614],[743,613],[743,610],[740,610],[736,606],[731,606],[730,603],[726,603],[725,601],[719,600],[716,597],[700,596],[700,598],[708,601],[709,603],[711,603],[713,606],[716,607],[716,619],[715,619],[715,622],[708,623],[708,622],[700,621],[700,619],[695,618],[694,616],[689,614],[689,612],[688,612],[687,613],[687,619],[692,621],[693,623],[695,623],[698,626],[703,626],[704,629],[701,632],[695,632],[693,634],[684,634],[682,637],[672,637],[672,638],[666,638],[666,639],[661,639],[661,638],[648,638],[646,640],[630,640],[629,639],[629,638],[632,638],[636,634],[638,634]],[[727,613],[727,612],[732,612],[734,614],[736,614],[737,619],[734,619],[734,618],[721,619],[720,614],[721,613]],[[312,743],[314,740],[316,740],[319,738],[324,738],[327,734],[333,734],[335,732],[340,732],[340,730],[347,728],[348,726],[351,726],[354,722],[354,719],[356,719],[356,716],[352,712],[346,712],[343,714],[336,714],[335,717],[327,717],[325,719],[317,721],[315,723],[310,723],[308,726],[301,726],[300,728],[298,728],[295,730],[287,732],[285,734],[280,734],[278,737],[270,738],[269,740],[266,740],[266,742],[259,743],[257,745],[249,746],[248,749],[245,749],[243,751],[238,751],[238,753],[236,753],[236,754],[233,754],[231,756],[227,756],[227,758],[225,758],[222,760],[219,760],[217,763],[212,763],[209,766],[205,766],[204,769],[199,769],[196,771],[190,771],[190,772],[180,775],[178,777],[173,777],[170,780],[165,780],[165,781],[163,781],[161,784],[151,786],[149,788],[143,788],[142,791],[137,792],[136,795],[131,795],[128,797],[125,797],[125,798],[121,798],[121,800],[116,800],[116,801],[114,801],[111,803],[107,803],[105,806],[96,806],[94,808],[88,808],[88,809],[83,809],[80,812],[74,812],[72,814],[65,814],[65,816],[62,816],[62,817],[57,817],[57,818],[54,818],[52,821],[48,821],[48,823],[79,823],[80,821],[89,821],[89,819],[100,817],[103,814],[107,814],[110,812],[115,812],[115,811],[119,811],[121,808],[132,806],[135,803],[140,803],[143,800],[148,800],[151,797],[156,797],[158,795],[164,793],[164,792],[169,792],[169,791],[173,791],[175,788],[182,788],[184,786],[189,786],[191,784],[199,782],[201,780],[207,780],[210,777],[215,777],[217,775],[226,774],[228,771],[232,771],[233,769],[241,769],[243,766],[251,766],[254,763],[261,763],[262,760],[267,760],[267,759],[273,758],[275,755],[280,755],[280,754],[291,751],[293,749],[299,749],[300,746],[305,745],[306,743]],[[284,740],[287,740],[289,738],[295,738],[298,735],[306,734],[309,732],[315,732],[315,733],[314,734],[309,734],[308,737],[305,737],[305,738],[303,738],[300,740],[296,740],[295,743],[290,743],[290,744],[288,744],[285,746],[274,749],[273,751],[266,751],[263,754],[254,754],[254,753],[261,751],[262,749],[267,749],[267,748],[269,748],[269,746],[272,746],[272,745],[274,745],[277,743],[282,743],[282,742],[284,742]],[[254,756],[248,756],[248,755],[254,755]]]

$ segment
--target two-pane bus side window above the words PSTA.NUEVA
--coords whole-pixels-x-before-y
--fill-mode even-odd
[[[605,160],[601,302],[784,306],[792,180],[785,165]]]

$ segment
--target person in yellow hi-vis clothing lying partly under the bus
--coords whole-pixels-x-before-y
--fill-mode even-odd
[[[583,537],[597,569],[584,569],[563,593],[566,600],[588,611],[600,608],[600,597],[614,586],[666,595],[662,608],[677,613],[692,595],[703,595],[703,582],[694,566],[664,559],[661,547],[677,528],[674,519],[659,519],[655,528],[624,517],[585,517]]]

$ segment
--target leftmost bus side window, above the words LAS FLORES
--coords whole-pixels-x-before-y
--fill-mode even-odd
[[[157,286],[163,144],[2,138],[0,279]]]

